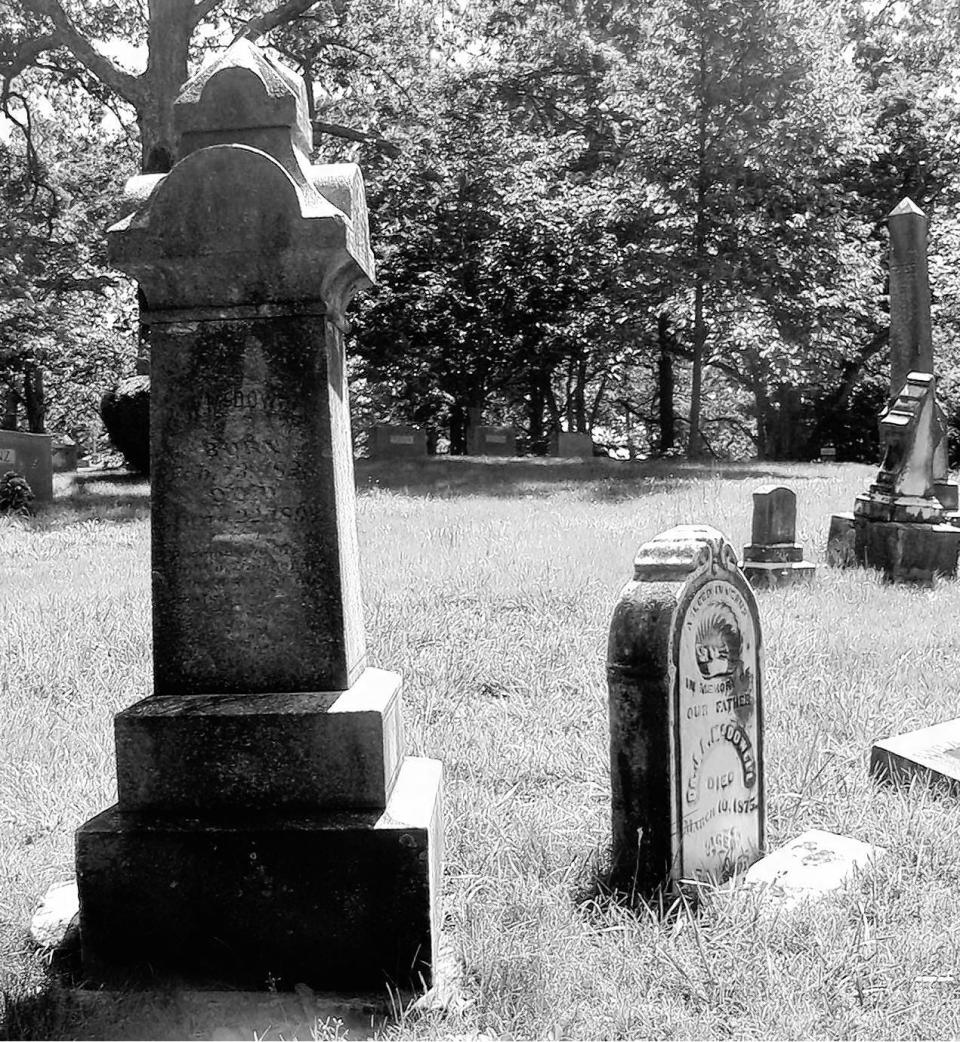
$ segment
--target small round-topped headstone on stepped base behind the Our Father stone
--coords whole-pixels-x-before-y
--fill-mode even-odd
[[[816,565],[804,561],[796,542],[796,493],[782,485],[763,485],[754,491],[754,525],[743,547],[743,574],[755,587],[809,582]]]

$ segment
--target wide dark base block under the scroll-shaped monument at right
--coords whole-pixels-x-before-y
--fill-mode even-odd
[[[950,524],[873,521],[852,514],[830,519],[827,563],[877,568],[892,582],[929,582],[957,574],[960,528]]]

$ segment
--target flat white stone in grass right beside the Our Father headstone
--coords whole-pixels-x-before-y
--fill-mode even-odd
[[[882,847],[811,828],[752,865],[743,883],[790,908],[839,890],[883,854]]]

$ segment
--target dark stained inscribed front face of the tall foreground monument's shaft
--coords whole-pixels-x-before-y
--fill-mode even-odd
[[[322,510],[330,494],[318,433],[327,381],[315,373],[325,365],[322,326],[291,358],[278,349],[292,336],[280,323],[243,336],[224,323],[190,351],[178,330],[166,332],[153,414],[154,485],[164,488],[154,526],[157,686],[333,689],[341,566]]]

